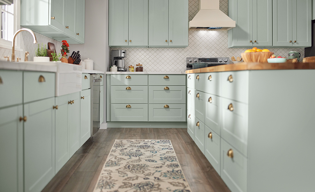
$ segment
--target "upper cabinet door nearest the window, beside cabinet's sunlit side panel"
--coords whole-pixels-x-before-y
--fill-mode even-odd
[[[50,4],[50,25],[65,32],[65,0],[50,0]]]

